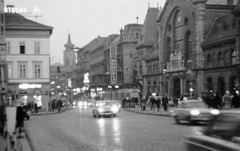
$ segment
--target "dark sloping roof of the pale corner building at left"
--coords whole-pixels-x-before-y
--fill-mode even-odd
[[[50,30],[51,33],[53,30],[51,26],[40,24],[13,13],[5,13],[5,23],[6,29]]]

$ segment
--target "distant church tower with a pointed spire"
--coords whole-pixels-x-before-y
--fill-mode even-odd
[[[71,42],[70,33],[68,34],[68,41],[64,45],[65,50],[63,51],[63,65],[66,69],[72,69],[75,67],[75,51],[73,50],[74,44]]]

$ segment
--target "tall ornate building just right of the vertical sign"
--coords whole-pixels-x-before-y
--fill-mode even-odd
[[[128,24],[124,29],[120,30],[120,41],[117,45],[119,73],[122,74],[121,86],[122,88],[138,88],[139,85],[136,81],[134,73],[134,54],[137,50],[135,46],[140,39],[142,30],[141,24]]]

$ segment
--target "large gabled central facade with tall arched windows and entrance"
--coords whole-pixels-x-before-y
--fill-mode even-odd
[[[194,96],[205,92],[205,51],[201,44],[214,20],[229,14],[236,2],[166,1],[157,18],[162,94],[179,97],[182,94]]]

